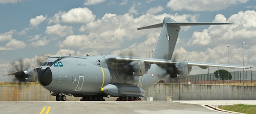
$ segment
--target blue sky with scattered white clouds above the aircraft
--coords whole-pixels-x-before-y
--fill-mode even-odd
[[[34,64],[36,55],[120,54],[148,57],[164,16],[180,22],[230,22],[229,26],[183,27],[176,44],[179,60],[256,64],[256,1],[0,0],[0,75],[19,57]],[[194,68],[193,68],[194,69]],[[212,68],[211,72],[215,69]],[[192,74],[206,73],[196,69]]]

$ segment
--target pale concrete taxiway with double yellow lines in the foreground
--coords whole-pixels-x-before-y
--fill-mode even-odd
[[[254,102],[254,103],[253,103]],[[204,105],[255,101],[65,101],[0,102],[0,113],[226,113]]]

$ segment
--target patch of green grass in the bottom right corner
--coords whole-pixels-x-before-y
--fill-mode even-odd
[[[220,106],[219,108],[242,113],[256,113],[256,105],[234,104],[230,106]]]

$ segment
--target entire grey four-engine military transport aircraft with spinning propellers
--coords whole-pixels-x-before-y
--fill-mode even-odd
[[[54,56],[40,67],[24,68],[23,61],[11,63],[19,81],[30,81],[36,74],[38,82],[53,92],[57,101],[66,96],[82,97],[81,100],[103,100],[104,97],[119,97],[119,100],[139,100],[145,90],[164,77],[183,78],[192,66],[207,69],[209,66],[250,69],[250,66],[215,64],[172,60],[181,26],[228,25],[229,23],[176,22],[164,17],[161,24],[138,28],[160,28],[162,31],[153,58],[121,55],[101,56]]]

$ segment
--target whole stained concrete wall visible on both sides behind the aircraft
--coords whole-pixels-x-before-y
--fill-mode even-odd
[[[153,97],[153,100],[166,100],[168,96],[172,96],[172,100],[256,100],[256,86],[161,83],[147,89],[144,96]],[[67,100],[79,101],[80,98],[67,96]],[[3,84],[0,101],[55,101],[55,96],[39,84],[22,88]]]

